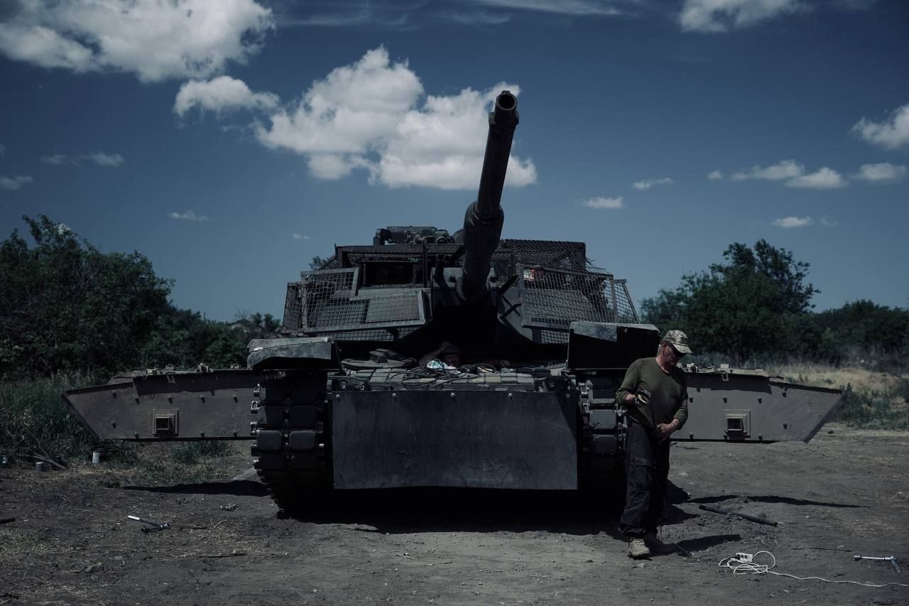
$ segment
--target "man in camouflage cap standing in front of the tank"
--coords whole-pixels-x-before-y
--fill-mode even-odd
[[[669,436],[688,418],[687,382],[677,364],[689,353],[684,332],[668,331],[656,357],[634,360],[615,394],[628,409],[627,490],[619,529],[628,540],[631,558],[646,558],[651,549],[663,547],[656,527],[668,485]]]

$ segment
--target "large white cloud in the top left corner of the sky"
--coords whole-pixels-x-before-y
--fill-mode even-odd
[[[245,63],[272,27],[272,11],[255,0],[27,0],[0,23],[0,53],[147,82],[198,78]]]

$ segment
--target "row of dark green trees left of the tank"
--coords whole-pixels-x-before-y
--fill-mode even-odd
[[[170,302],[173,280],[139,252],[103,253],[44,215],[23,217],[0,244],[0,378],[79,372],[105,379],[125,369],[245,365],[251,338],[274,337],[270,314],[235,322]]]

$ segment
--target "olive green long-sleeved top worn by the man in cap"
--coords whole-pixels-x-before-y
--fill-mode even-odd
[[[622,387],[615,393],[615,399],[624,404],[625,396],[637,393],[639,389],[650,392],[650,404],[628,406],[628,415],[648,427],[658,423],[671,423],[679,419],[684,425],[688,419],[688,382],[684,370],[673,367],[668,373],[660,368],[655,358],[636,359],[625,372]],[[679,429],[682,429],[679,425]]]

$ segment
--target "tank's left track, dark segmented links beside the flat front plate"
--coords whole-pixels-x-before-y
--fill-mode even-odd
[[[253,466],[275,500],[278,517],[312,509],[317,493],[331,487],[325,394],[326,373],[319,371],[269,372],[253,390]]]

